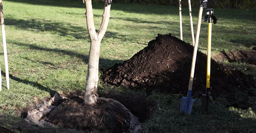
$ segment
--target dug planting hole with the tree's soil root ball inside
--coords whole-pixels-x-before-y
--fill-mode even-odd
[[[115,91],[98,91],[98,94],[99,98],[95,106],[85,106],[82,103],[84,91],[74,90],[60,93],[66,99],[54,103],[58,106],[47,115],[46,121],[56,127],[64,127],[68,132],[72,132],[69,129],[76,129],[86,133],[99,130],[120,133],[137,130],[136,126],[138,127],[140,123],[149,120],[157,110],[156,101],[141,95],[128,95]],[[39,104],[47,101],[46,99],[30,103],[30,106],[22,109],[20,114],[26,117],[28,111],[36,109]],[[117,100],[121,104],[111,99]],[[123,106],[128,110],[124,109]],[[24,122],[16,124],[13,129],[36,130],[35,126],[29,123],[24,124]]]

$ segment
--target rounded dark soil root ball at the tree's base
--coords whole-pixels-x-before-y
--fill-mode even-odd
[[[113,99],[97,99],[95,106],[82,104],[82,96],[74,96],[56,107],[48,116],[51,123],[79,130],[110,130],[113,133],[130,131],[134,122],[129,110]],[[137,119],[138,121],[138,119]],[[137,124],[136,122],[134,123]]]

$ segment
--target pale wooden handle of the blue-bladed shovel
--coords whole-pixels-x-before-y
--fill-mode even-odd
[[[198,13],[197,29],[196,29],[196,42],[195,42],[194,52],[193,52],[193,57],[192,57],[192,65],[191,65],[191,72],[190,72],[188,90],[192,90],[192,84],[193,84],[194,73],[195,73],[195,65],[196,65],[196,53],[197,53],[198,40],[199,40],[199,34],[200,34],[200,28],[201,28],[202,14],[203,14],[203,7],[200,6],[199,13]]]

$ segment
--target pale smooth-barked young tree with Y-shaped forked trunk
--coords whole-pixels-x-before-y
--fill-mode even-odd
[[[89,32],[91,44],[89,53],[89,62],[86,76],[86,86],[84,94],[84,103],[86,105],[94,105],[97,102],[97,85],[99,80],[99,53],[100,42],[107,30],[110,18],[110,6],[112,0],[105,0],[104,13],[99,31],[96,32],[93,20],[91,0],[83,0],[86,5],[86,22]]]

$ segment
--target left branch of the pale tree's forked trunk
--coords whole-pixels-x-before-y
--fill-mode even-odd
[[[94,41],[94,40],[98,41],[99,37],[95,31],[91,0],[85,0],[85,6],[86,6],[86,23],[87,23],[87,29],[88,29],[90,39],[91,41]]]

